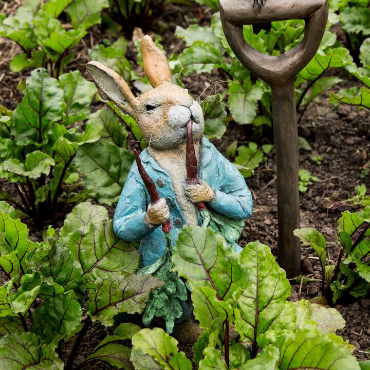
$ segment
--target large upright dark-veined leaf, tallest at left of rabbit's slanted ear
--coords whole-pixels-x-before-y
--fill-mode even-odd
[[[42,144],[47,140],[51,123],[62,117],[63,90],[42,68],[33,70],[26,84],[22,103],[14,110],[11,132],[18,145]]]

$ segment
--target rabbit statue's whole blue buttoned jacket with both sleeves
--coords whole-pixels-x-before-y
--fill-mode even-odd
[[[175,245],[177,235],[186,221],[177,204],[170,175],[146,149],[141,152],[140,158],[147,174],[156,183],[160,197],[167,200],[172,223],[172,241]],[[207,207],[232,219],[246,219],[251,215],[252,195],[243,176],[205,137],[201,140],[198,173],[216,194],[215,199],[208,203]],[[117,204],[113,228],[116,235],[125,241],[141,240],[139,248],[141,267],[156,262],[166,247],[161,227],[151,228],[144,223],[144,215],[149,204],[150,196],[134,162]],[[198,219],[201,224],[199,213]]]

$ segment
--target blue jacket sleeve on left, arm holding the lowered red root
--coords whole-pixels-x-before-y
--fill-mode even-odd
[[[155,228],[145,224],[146,190],[134,163],[127,175],[113,219],[116,235],[128,242],[140,241]]]

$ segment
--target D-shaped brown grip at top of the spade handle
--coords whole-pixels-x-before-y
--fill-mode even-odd
[[[236,57],[270,86],[293,79],[313,58],[320,46],[328,16],[327,0],[267,0],[261,13],[250,0],[219,0],[221,23]],[[276,57],[253,49],[243,36],[243,25],[304,19],[304,38]]]

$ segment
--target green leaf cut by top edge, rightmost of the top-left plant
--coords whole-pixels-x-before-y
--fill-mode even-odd
[[[74,0],[66,9],[73,28],[83,26],[85,29],[100,24],[100,11],[109,6],[107,0]]]

